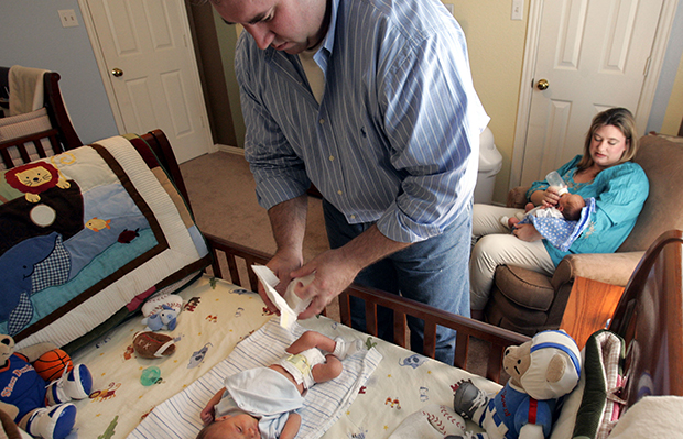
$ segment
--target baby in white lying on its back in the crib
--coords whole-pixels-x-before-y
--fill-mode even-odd
[[[294,438],[308,387],[339,376],[340,360],[362,349],[362,340],[304,332],[275,364],[226,377],[202,410],[205,427],[197,439]]]

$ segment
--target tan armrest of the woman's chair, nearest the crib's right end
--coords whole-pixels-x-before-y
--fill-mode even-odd
[[[606,284],[626,286],[644,252],[585,253],[564,256],[551,283],[560,286],[573,283],[576,277],[586,277]]]

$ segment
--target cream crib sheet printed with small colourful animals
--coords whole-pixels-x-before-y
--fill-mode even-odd
[[[124,322],[73,355],[75,363],[90,369],[94,391],[88,398],[76,402],[78,415],[72,435],[128,437],[154,407],[184,392],[226,359],[240,340],[274,318],[258,294],[206,275],[178,295],[185,306],[177,327],[174,331],[161,331],[176,340],[172,355],[143,359],[135,354],[132,339],[144,329],[141,318]],[[333,338],[361,338],[381,354],[377,369],[325,438],[387,438],[408,416],[427,405],[451,406],[453,386],[464,378],[473,380],[485,392],[500,388],[478,375],[375,339],[326,317],[300,323]],[[150,366],[159,367],[160,378],[156,384],[144,386],[141,376]],[[202,408],[203,404],[198,404],[197,414]]]

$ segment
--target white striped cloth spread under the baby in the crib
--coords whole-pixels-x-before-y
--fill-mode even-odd
[[[306,331],[294,323],[292,332],[275,317],[242,340],[226,360],[187,388],[158,405],[129,438],[194,438],[202,429],[199,413],[212,396],[224,387],[226,376],[274,363],[286,347]],[[375,349],[357,352],[343,361],[337,378],[308,389],[301,411],[297,439],[316,439],[325,433],[351,405],[360,387],[379,365],[382,355]]]

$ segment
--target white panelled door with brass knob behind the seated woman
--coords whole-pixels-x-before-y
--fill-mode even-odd
[[[543,1],[522,185],[581,154],[597,112],[636,113],[662,2]]]

